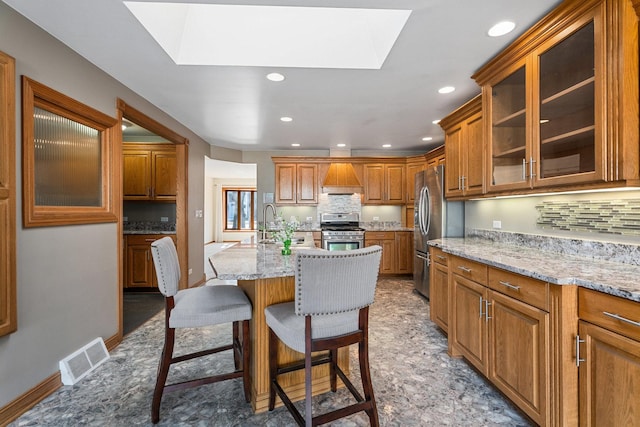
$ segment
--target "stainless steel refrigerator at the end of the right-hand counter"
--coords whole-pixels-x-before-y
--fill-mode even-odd
[[[416,173],[414,210],[413,281],[416,290],[429,298],[429,247],[427,241],[464,236],[464,202],[444,198],[444,166]]]

